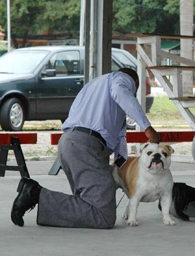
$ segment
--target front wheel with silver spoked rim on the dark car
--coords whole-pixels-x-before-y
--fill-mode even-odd
[[[24,107],[19,99],[10,98],[2,104],[0,123],[3,130],[18,131],[23,128]]]

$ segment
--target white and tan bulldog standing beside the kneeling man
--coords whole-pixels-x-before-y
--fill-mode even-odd
[[[171,146],[145,143],[141,147],[140,157],[129,157],[118,169],[113,165],[112,174],[117,188],[122,188],[129,201],[124,208],[122,218],[127,226],[137,226],[137,209],[140,202],[154,202],[160,199],[163,222],[175,225],[169,215],[172,202],[173,180],[169,166]]]

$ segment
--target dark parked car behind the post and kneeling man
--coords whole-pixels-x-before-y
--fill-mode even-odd
[[[13,50],[0,58],[0,124],[21,130],[25,120],[61,119],[83,87],[85,49],[80,46],[37,46]],[[127,51],[112,49],[112,71],[137,69]],[[152,105],[147,91],[147,111]],[[150,99],[150,100],[149,100]]]

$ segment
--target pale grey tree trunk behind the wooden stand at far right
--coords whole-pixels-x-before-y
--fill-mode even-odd
[[[180,0],[180,34],[193,35],[193,0]],[[193,40],[180,40],[180,55],[193,59]],[[183,71],[183,96],[193,94],[193,72]]]

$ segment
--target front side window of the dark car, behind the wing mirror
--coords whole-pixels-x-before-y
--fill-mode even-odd
[[[79,51],[63,51],[54,54],[46,64],[46,69],[55,69],[56,76],[80,74]]]

